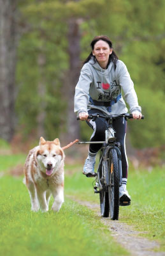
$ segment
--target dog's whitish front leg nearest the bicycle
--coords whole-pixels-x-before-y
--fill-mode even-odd
[[[64,202],[64,186],[58,186],[52,191],[54,196],[54,204],[52,205],[52,210],[58,212],[61,209],[61,205]]]

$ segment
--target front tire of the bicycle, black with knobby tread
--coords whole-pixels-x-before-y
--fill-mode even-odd
[[[110,218],[111,220],[118,220],[120,173],[117,151],[115,150],[115,148],[111,148],[110,150],[108,169],[110,170],[110,186],[108,186]]]

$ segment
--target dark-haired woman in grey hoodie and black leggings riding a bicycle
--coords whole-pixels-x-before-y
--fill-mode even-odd
[[[83,63],[80,78],[75,90],[75,112],[80,120],[86,120],[94,130],[90,141],[104,141],[106,124],[102,118],[95,122],[88,120],[91,113],[122,114],[127,113],[126,99],[134,119],[141,118],[141,107],[134,91],[134,84],[129,76],[126,65],[118,60],[108,36],[96,36],[90,46],[92,52]],[[124,92],[124,99],[121,95]],[[120,202],[131,201],[127,184],[127,156],[125,147],[126,120],[118,118],[113,122],[117,141],[121,145],[122,154],[122,186],[120,187]],[[83,174],[94,175],[96,154],[101,144],[90,144],[89,154],[83,166]]]

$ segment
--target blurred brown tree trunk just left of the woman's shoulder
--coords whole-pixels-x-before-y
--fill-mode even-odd
[[[69,72],[67,77],[67,140],[73,141],[80,137],[80,124],[74,113],[75,86],[80,76],[80,29],[77,19],[70,19],[68,23],[68,54]]]

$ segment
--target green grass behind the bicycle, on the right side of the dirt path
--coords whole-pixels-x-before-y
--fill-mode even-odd
[[[82,175],[82,167],[77,168],[73,177],[66,173],[66,191],[82,200],[99,204],[99,195],[94,194],[92,181]],[[119,220],[132,225],[136,230],[145,232],[141,236],[159,241],[160,250],[164,248],[165,220],[165,170],[155,168],[152,172],[141,170],[129,172],[127,189],[131,195],[131,206],[120,207]],[[72,184],[72,186],[68,186]]]

